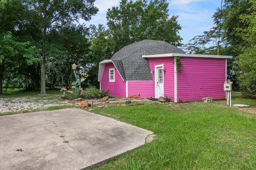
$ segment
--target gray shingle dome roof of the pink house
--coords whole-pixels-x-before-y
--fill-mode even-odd
[[[152,80],[147,58],[142,55],[184,53],[182,49],[165,41],[142,40],[123,47],[110,60],[115,64],[124,81]]]

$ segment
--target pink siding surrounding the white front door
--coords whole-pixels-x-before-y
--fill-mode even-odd
[[[153,73],[153,91],[155,94],[155,65],[164,64],[164,94],[174,101],[174,64],[173,57],[148,58]],[[154,95],[155,96],[155,95]]]

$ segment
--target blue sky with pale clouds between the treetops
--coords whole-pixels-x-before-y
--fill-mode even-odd
[[[179,35],[182,44],[189,42],[194,36],[202,35],[204,31],[213,27],[212,15],[221,5],[221,0],[167,0],[169,15],[178,15],[178,22],[182,29]],[[96,0],[95,6],[99,12],[92,16],[86,24],[106,25],[108,8],[119,5],[119,0]]]

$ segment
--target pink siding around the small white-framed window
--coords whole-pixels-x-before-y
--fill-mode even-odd
[[[109,82],[109,69],[115,68],[113,63],[105,65],[101,79],[101,89],[109,90],[110,96],[125,97],[125,81],[121,78],[121,75],[115,68],[115,82]]]

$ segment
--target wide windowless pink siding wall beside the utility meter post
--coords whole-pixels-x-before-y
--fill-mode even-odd
[[[225,59],[182,57],[181,63],[182,71],[177,75],[178,101],[195,101],[204,97],[225,99]]]

